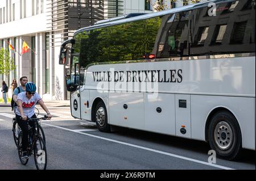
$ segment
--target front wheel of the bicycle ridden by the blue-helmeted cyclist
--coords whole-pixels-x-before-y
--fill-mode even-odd
[[[36,138],[36,144],[34,145],[34,160],[36,169],[46,170],[47,167],[47,151],[46,143],[41,136]]]

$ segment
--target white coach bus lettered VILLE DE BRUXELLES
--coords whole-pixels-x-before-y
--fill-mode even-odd
[[[230,160],[255,150],[255,0],[103,20],[65,41],[59,63],[72,116],[102,132],[207,141]]]

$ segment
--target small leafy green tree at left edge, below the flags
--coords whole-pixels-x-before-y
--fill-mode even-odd
[[[16,68],[14,65],[14,59],[11,58],[7,49],[0,49],[0,74],[9,75],[11,71]]]

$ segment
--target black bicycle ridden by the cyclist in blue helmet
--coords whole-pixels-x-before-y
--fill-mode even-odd
[[[34,121],[34,126],[30,127],[28,124],[28,156],[22,157],[22,132],[19,132],[18,136],[18,155],[19,160],[22,165],[26,165],[28,159],[32,154],[34,154],[34,161],[37,170],[46,170],[47,166],[47,151],[46,151],[46,143],[44,142],[42,136],[40,136],[40,120],[47,120],[48,117],[36,117],[36,118],[28,118],[27,121]],[[42,129],[43,130],[43,129]]]

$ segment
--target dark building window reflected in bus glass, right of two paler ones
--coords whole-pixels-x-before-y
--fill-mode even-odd
[[[230,43],[232,43],[232,44],[242,44],[243,43],[243,37],[245,36],[246,24],[247,24],[247,21],[234,23],[234,28],[233,28]]]

